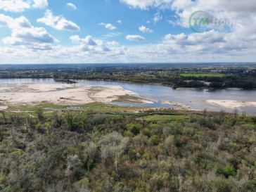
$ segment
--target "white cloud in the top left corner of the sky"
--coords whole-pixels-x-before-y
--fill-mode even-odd
[[[30,4],[23,0],[0,0],[0,10],[21,12],[25,8],[30,8]]]

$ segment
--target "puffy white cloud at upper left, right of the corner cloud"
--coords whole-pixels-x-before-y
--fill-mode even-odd
[[[39,18],[38,23],[44,23],[49,25],[56,30],[68,30],[68,31],[79,31],[80,28],[75,23],[63,18],[63,16],[54,16],[50,10],[46,10],[44,18]]]

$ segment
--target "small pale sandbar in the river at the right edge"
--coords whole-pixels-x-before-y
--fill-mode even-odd
[[[256,106],[256,102],[252,101],[234,101],[234,100],[200,100],[212,105],[218,105],[223,108],[240,108],[244,106]]]

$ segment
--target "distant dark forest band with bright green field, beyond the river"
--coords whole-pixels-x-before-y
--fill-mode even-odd
[[[201,74],[203,75],[201,76]],[[184,76],[185,74],[186,76]],[[135,83],[164,84],[174,89],[256,89],[255,64],[183,65],[5,65],[0,78],[54,78],[74,83],[75,79],[103,79]]]

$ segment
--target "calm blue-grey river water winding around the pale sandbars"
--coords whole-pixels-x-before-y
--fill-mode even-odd
[[[53,79],[0,79],[0,84],[61,84],[60,82],[55,82]],[[134,91],[139,94],[139,96],[153,98],[158,100],[152,104],[135,105],[130,103],[118,103],[113,102],[118,105],[133,105],[133,106],[147,106],[147,107],[161,107],[161,108],[177,108],[173,105],[165,104],[161,105],[162,100],[174,101],[176,103],[183,103],[185,105],[191,106],[191,108],[196,110],[207,110],[219,111],[222,107],[216,105],[210,105],[208,103],[203,103],[199,101],[200,99],[217,99],[217,100],[236,100],[236,101],[254,101],[256,102],[256,90],[215,90],[209,91],[208,89],[201,90],[173,90],[171,87],[165,87],[162,85],[155,84],[132,84],[124,82],[107,82],[107,81],[96,81],[96,80],[84,80],[80,81],[78,84],[93,85],[93,86],[104,86],[104,85],[118,85],[127,89],[129,91]],[[230,108],[223,108],[226,112],[232,112]],[[256,107],[247,106],[241,107],[239,109],[241,112],[243,110],[250,115],[256,115]]]

